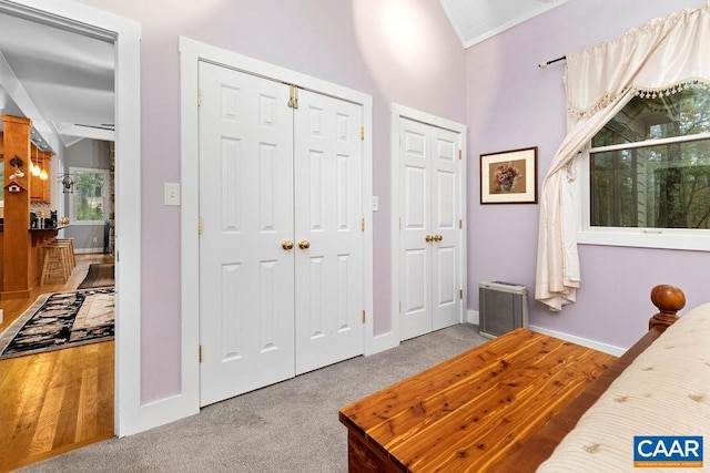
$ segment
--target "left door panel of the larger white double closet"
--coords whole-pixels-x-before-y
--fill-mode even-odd
[[[288,89],[200,64],[201,403],[294,376]]]

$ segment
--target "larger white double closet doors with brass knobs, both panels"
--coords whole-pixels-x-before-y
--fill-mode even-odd
[[[363,352],[363,111],[200,63],[201,404]]]

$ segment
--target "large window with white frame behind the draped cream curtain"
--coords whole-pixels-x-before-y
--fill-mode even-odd
[[[710,247],[710,92],[673,92],[633,97],[592,138],[580,243]]]

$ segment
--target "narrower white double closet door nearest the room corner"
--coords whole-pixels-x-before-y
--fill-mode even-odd
[[[400,339],[459,323],[463,136],[399,119]]]

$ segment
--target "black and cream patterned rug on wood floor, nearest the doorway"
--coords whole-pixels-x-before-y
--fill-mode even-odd
[[[0,335],[0,359],[113,339],[114,288],[40,296]]]

